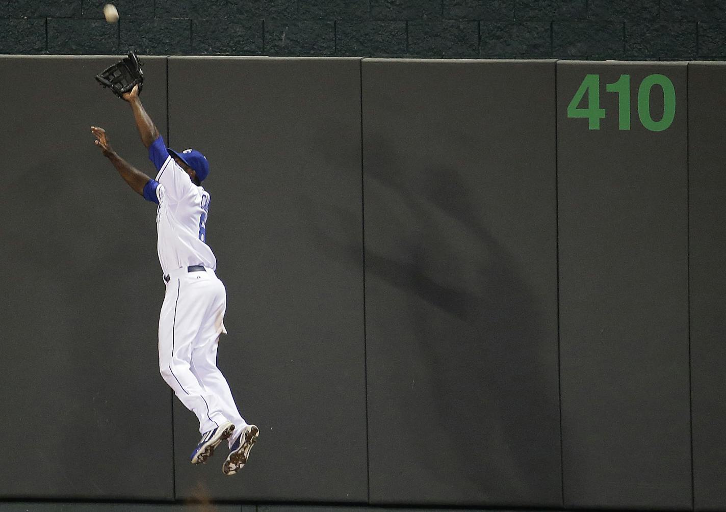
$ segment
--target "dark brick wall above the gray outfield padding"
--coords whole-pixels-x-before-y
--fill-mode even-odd
[[[0,53],[724,59],[724,0],[0,0]]]

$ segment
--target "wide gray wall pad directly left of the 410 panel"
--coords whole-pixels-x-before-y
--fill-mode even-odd
[[[561,505],[555,62],[363,62],[372,503]]]

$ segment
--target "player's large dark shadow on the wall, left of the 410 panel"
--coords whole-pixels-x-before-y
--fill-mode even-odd
[[[542,479],[533,471],[559,467],[550,456],[556,452],[559,465],[552,444],[559,406],[544,373],[557,369],[542,364],[552,360],[552,329],[526,268],[497,239],[516,241],[502,230],[517,226],[486,218],[480,205],[492,192],[476,190],[462,170],[412,176],[385,141],[372,147],[364,173],[368,385],[370,399],[385,404],[369,408],[383,408],[386,439],[371,423],[371,453],[412,468],[401,482],[454,485],[473,500],[531,495],[533,479]],[[336,208],[342,229],[331,228],[322,222],[331,208],[308,202],[301,215],[314,222],[311,235],[331,260],[359,262],[358,245],[331,235],[359,233],[359,212]]]

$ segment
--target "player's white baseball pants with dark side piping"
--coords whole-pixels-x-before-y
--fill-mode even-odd
[[[159,371],[181,403],[197,415],[200,433],[232,421],[232,445],[247,423],[216,363],[226,309],[227,292],[211,269],[169,273],[159,318]]]

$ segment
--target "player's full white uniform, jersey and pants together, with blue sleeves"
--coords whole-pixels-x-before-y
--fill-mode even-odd
[[[144,187],[144,197],[158,204],[158,253],[166,281],[159,317],[159,371],[181,403],[197,415],[200,433],[232,421],[231,446],[247,423],[216,366],[219,335],[227,332],[227,293],[205,243],[209,192],[192,183],[161,136],[150,146],[149,159],[158,174]]]

